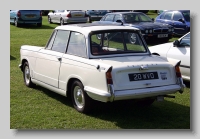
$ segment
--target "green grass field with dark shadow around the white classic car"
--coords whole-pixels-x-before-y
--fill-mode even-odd
[[[190,83],[175,99],[154,102],[150,107],[131,103],[97,103],[88,115],[78,113],[70,98],[45,88],[24,85],[20,63],[20,46],[45,46],[58,24],[43,26],[10,25],[10,128],[11,129],[190,129]]]

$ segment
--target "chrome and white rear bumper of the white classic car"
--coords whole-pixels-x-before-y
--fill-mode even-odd
[[[167,94],[174,94],[177,91],[182,92],[184,85],[168,85],[162,87],[154,88],[144,88],[144,89],[135,89],[135,90],[114,90],[113,86],[109,86],[109,92],[103,92],[100,90],[92,89],[90,87],[84,88],[87,94],[95,100],[102,102],[112,102],[117,100],[128,100],[128,99],[138,99],[138,98],[147,98],[147,97],[156,97],[164,96]]]

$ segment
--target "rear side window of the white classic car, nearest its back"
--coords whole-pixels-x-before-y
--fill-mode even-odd
[[[80,57],[87,56],[85,37],[83,34],[78,32],[71,32],[67,53]]]

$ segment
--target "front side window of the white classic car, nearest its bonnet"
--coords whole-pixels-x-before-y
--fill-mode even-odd
[[[70,33],[69,31],[62,31],[62,30],[57,31],[57,34],[55,36],[53,46],[52,46],[53,51],[65,53],[66,48],[67,48],[69,33]]]

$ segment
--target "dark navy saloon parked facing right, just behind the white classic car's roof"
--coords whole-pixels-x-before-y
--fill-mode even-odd
[[[168,42],[173,35],[173,27],[167,24],[154,23],[154,21],[142,12],[116,12],[108,13],[102,17],[100,24],[121,23],[125,26],[136,27],[141,30],[141,33],[146,41],[161,39]]]

